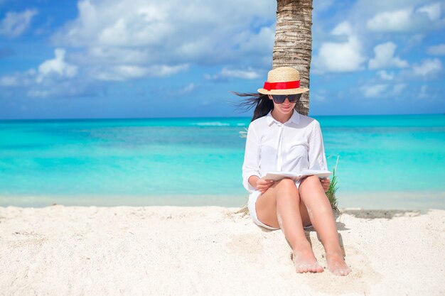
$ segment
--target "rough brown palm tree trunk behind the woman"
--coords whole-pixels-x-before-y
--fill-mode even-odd
[[[309,88],[312,53],[312,0],[277,0],[272,68],[294,67],[299,70],[301,86]],[[309,114],[309,92],[295,106],[299,114]]]

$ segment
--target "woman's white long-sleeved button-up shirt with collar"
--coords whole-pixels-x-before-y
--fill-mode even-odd
[[[252,175],[264,177],[267,172],[328,170],[320,124],[296,110],[284,124],[274,119],[272,111],[252,121],[247,131],[242,184],[250,193]],[[297,181],[298,182],[298,181]]]

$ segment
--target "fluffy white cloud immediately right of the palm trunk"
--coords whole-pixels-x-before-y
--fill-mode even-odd
[[[362,45],[353,28],[347,21],[339,23],[331,31],[332,35],[346,36],[343,43],[322,43],[318,55],[313,57],[316,72],[350,72],[362,69],[365,57]]]

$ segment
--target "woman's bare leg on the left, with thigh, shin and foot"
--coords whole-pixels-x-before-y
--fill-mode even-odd
[[[323,271],[304,234],[303,225],[311,224],[311,221],[293,180],[275,182],[258,197],[256,209],[259,221],[282,229],[294,252],[294,265],[298,273]]]

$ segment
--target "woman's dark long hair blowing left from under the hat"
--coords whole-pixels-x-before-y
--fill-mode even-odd
[[[255,119],[259,119],[262,116],[266,116],[269,111],[274,109],[274,102],[272,99],[269,99],[267,94],[259,94],[258,92],[232,92],[239,97],[247,97],[247,99],[242,99],[240,103],[235,104],[238,108],[243,111],[248,111],[255,107],[253,111],[252,121]]]

